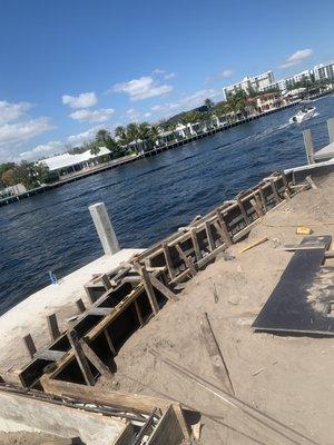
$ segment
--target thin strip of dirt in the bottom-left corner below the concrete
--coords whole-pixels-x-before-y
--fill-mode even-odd
[[[71,445],[69,438],[36,433],[0,433],[1,445]]]

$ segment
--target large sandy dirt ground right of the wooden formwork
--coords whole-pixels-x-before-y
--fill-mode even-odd
[[[271,211],[248,239],[234,245],[229,253],[235,259],[217,259],[199,271],[185,285],[179,301],[168,303],[134,334],[116,357],[118,369],[112,388],[164,395],[216,416],[215,419],[202,417],[203,445],[294,443],[268,433],[262,424],[245,417],[151,355],[150,349],[155,349],[222,386],[213,374],[199,336],[199,317],[207,313],[236,396],[317,444],[333,444],[334,338],[278,336],[254,333],[250,327],[293,255],[277,247],[299,244],[303,238],[295,234],[295,227],[307,225],[314,235],[334,235],[334,175],[315,182],[317,190],[299,194]],[[268,241],[239,253],[262,237],[268,237]],[[326,260],[326,265],[334,266],[334,259]],[[304,442],[298,438],[295,443]]]

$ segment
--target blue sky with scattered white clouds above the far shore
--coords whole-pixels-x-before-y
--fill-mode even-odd
[[[0,162],[334,61],[333,0],[0,0]]]

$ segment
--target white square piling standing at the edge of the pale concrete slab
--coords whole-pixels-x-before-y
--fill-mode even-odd
[[[98,236],[100,238],[105,254],[114,255],[119,251],[119,243],[109,219],[105,202],[97,202],[92,206],[89,206],[89,211]]]

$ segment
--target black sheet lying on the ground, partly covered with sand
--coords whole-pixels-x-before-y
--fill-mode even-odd
[[[256,330],[334,336],[334,318],[328,308],[334,300],[332,289],[323,281],[322,263],[331,245],[331,236],[304,238],[277,286],[253,323]],[[315,243],[318,248],[314,248]]]

